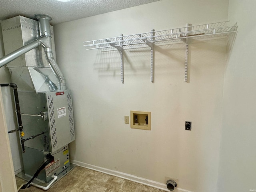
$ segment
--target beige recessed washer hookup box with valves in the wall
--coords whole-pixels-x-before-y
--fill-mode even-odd
[[[151,112],[131,111],[131,128],[151,130]]]

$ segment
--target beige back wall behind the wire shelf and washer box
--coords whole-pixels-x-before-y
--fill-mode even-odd
[[[86,50],[83,41],[228,18],[228,1],[162,0],[54,26],[57,62],[73,92],[73,160],[165,183],[216,192],[226,68],[225,41],[195,41],[184,82],[184,44],[125,50],[124,84],[117,51]],[[152,130],[124,124],[130,110],[152,112]],[[192,131],[185,131],[192,121]]]

